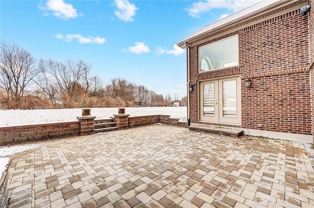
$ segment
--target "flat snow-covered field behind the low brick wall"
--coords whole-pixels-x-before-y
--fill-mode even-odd
[[[170,115],[186,122],[186,107],[125,107],[130,116]],[[0,127],[13,127],[35,124],[49,124],[78,121],[82,109],[49,109],[49,110],[0,110]],[[118,107],[91,108],[91,115],[96,119],[107,119],[118,114]]]

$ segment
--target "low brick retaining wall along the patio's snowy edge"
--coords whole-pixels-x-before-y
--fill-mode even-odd
[[[163,123],[165,125],[178,126],[184,128],[187,127],[186,122],[179,122],[179,119],[169,117],[170,116],[168,115],[129,117],[127,118],[126,128],[147,126],[156,123]],[[124,120],[126,119],[124,118]],[[106,119],[96,121],[96,123],[97,122],[99,123],[101,121],[106,121]],[[94,133],[94,126],[92,124],[94,124],[93,116],[90,117],[90,119],[87,120],[81,119],[80,121],[77,122],[28,125],[18,127],[3,127],[0,128],[0,146],[12,143],[21,143],[26,141],[38,141],[44,139],[53,139],[65,136],[75,136]]]

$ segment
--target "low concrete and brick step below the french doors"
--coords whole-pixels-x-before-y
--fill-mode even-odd
[[[231,128],[229,129],[228,127],[209,126],[203,124],[190,124],[190,126],[188,126],[187,128],[189,130],[203,131],[206,133],[223,134],[236,137],[241,136],[243,134],[243,130]]]

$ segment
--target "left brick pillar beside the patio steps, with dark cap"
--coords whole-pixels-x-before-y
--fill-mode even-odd
[[[82,109],[82,116],[78,116],[80,121],[80,135],[87,135],[95,133],[94,120],[96,116],[90,115],[90,109]]]

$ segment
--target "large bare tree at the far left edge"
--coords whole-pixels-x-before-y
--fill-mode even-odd
[[[36,60],[15,44],[0,42],[0,88],[6,93],[9,108],[20,107],[26,87],[38,74]]]

